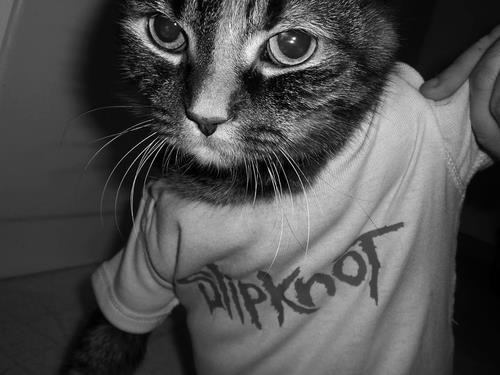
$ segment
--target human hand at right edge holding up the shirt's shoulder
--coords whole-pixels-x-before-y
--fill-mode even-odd
[[[500,160],[500,25],[477,41],[420,92],[441,100],[470,81],[471,122],[476,140]]]

